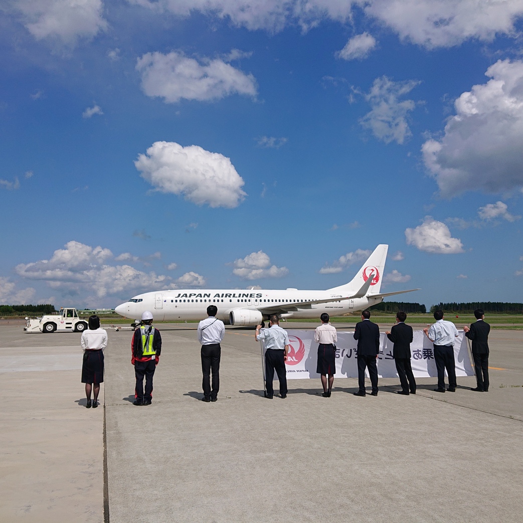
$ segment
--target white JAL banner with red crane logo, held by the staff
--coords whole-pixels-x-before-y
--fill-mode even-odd
[[[319,378],[316,372],[318,344],[314,342],[314,331],[298,331],[286,329],[289,335],[289,354],[286,362],[287,379]],[[338,331],[336,344],[336,378],[357,378],[358,364],[356,362],[357,341],[353,332]],[[392,357],[392,342],[385,333],[380,333],[380,355],[378,358],[378,376],[380,378],[397,378],[396,365]],[[423,331],[414,331],[411,343],[412,371],[416,378],[437,377],[434,361],[434,346]],[[454,344],[454,359],[456,360],[456,376],[474,376],[470,360],[467,338],[463,331]],[[367,370],[366,376],[368,377]],[[276,378],[276,375],[275,375]]]

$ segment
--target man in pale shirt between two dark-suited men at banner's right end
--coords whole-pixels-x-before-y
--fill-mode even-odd
[[[443,311],[434,313],[434,323],[430,328],[424,328],[423,332],[434,344],[434,361],[438,369],[438,388],[435,392],[445,392],[445,369],[449,376],[449,388],[447,391],[456,392],[456,360],[454,360],[454,339],[459,336],[456,325],[444,319]]]

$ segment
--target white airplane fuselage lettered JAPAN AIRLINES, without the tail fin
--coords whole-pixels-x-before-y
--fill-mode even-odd
[[[119,305],[116,312],[131,319],[139,319],[147,310],[153,313],[156,321],[202,320],[207,317],[207,307],[214,304],[218,307],[217,317],[229,323],[229,313],[234,309],[259,311],[265,319],[272,308],[285,309],[281,317],[318,319],[324,312],[335,316],[363,310],[382,301],[381,297],[339,300],[342,297],[329,290],[164,290],[139,294]],[[304,304],[328,299],[332,301]]]

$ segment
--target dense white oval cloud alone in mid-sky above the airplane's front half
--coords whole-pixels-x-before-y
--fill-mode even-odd
[[[246,196],[231,160],[198,145],[155,142],[134,165],[157,190],[183,195],[197,205],[233,208]]]

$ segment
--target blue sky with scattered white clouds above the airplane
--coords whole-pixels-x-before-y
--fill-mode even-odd
[[[0,303],[523,301],[523,2],[12,0]],[[391,298],[393,300],[394,298]]]

